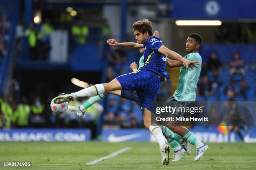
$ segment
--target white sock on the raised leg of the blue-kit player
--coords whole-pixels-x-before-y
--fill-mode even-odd
[[[85,89],[79,90],[78,92],[71,93],[75,97],[91,97],[95,95],[100,95],[105,91],[103,84],[93,85]]]

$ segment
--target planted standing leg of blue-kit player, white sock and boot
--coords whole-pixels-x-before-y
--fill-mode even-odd
[[[168,165],[170,158],[169,158],[169,152],[170,147],[169,145],[166,145],[165,143],[165,137],[162,133],[161,128],[156,125],[151,125],[151,111],[149,111],[146,107],[143,107],[143,122],[146,129],[148,129],[152,135],[156,138],[156,141],[159,144],[160,152],[161,152],[161,164],[162,165]]]

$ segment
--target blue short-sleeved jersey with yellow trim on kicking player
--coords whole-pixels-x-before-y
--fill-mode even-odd
[[[161,52],[158,52],[159,47],[163,45],[160,38],[149,37],[143,45],[146,49],[144,52],[144,65],[140,70],[155,72],[161,76],[161,81],[169,79],[169,74],[165,71],[167,58]]]

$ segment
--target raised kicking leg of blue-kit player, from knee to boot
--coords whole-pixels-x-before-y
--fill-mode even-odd
[[[61,95],[54,98],[55,104],[60,104],[67,101],[73,101],[77,97],[90,97],[100,95],[102,93],[110,93],[114,90],[122,90],[122,87],[117,79],[104,84],[97,84],[85,89],[79,90],[78,92],[72,92],[69,95]]]

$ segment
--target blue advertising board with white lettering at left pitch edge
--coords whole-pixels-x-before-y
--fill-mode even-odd
[[[10,129],[0,130],[0,141],[66,141],[83,142],[91,139],[89,129]]]

